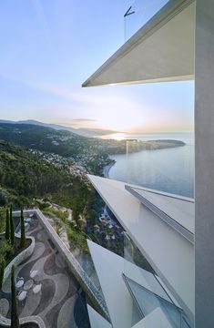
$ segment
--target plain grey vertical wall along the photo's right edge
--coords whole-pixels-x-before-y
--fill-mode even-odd
[[[196,327],[214,327],[214,1],[196,7]]]

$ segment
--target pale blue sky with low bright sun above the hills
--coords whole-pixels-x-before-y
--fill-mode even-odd
[[[81,87],[123,45],[123,15],[132,3],[1,1],[0,119],[123,132],[192,130],[192,81]]]

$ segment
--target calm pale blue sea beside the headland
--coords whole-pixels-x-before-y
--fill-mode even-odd
[[[127,154],[111,156],[116,164],[109,178],[156,190],[194,197],[193,133],[158,133],[127,135],[141,140],[175,139],[186,143],[175,149],[142,150],[128,153],[135,141],[127,141]]]

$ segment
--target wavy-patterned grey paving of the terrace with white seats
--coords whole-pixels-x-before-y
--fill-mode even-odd
[[[27,292],[25,300],[18,302],[20,317],[38,315],[46,323],[46,328],[82,328],[82,324],[76,323],[77,313],[81,316],[80,322],[84,320],[84,327],[89,328],[87,306],[78,292],[79,285],[36,217],[29,223],[27,235],[35,237],[36,248],[32,256],[15,270],[15,277],[25,280],[19,291],[25,289]],[[33,270],[38,273],[36,278],[31,279],[30,272]],[[34,293],[33,288],[40,283],[41,291]],[[79,298],[82,302],[76,302]],[[0,304],[4,305],[1,307],[5,316],[10,318],[10,277],[4,283]]]

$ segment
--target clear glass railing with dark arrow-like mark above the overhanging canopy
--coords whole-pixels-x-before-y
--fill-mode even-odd
[[[136,0],[127,8],[124,14],[125,41],[133,36],[140,27],[158,13],[168,3],[168,0]]]

